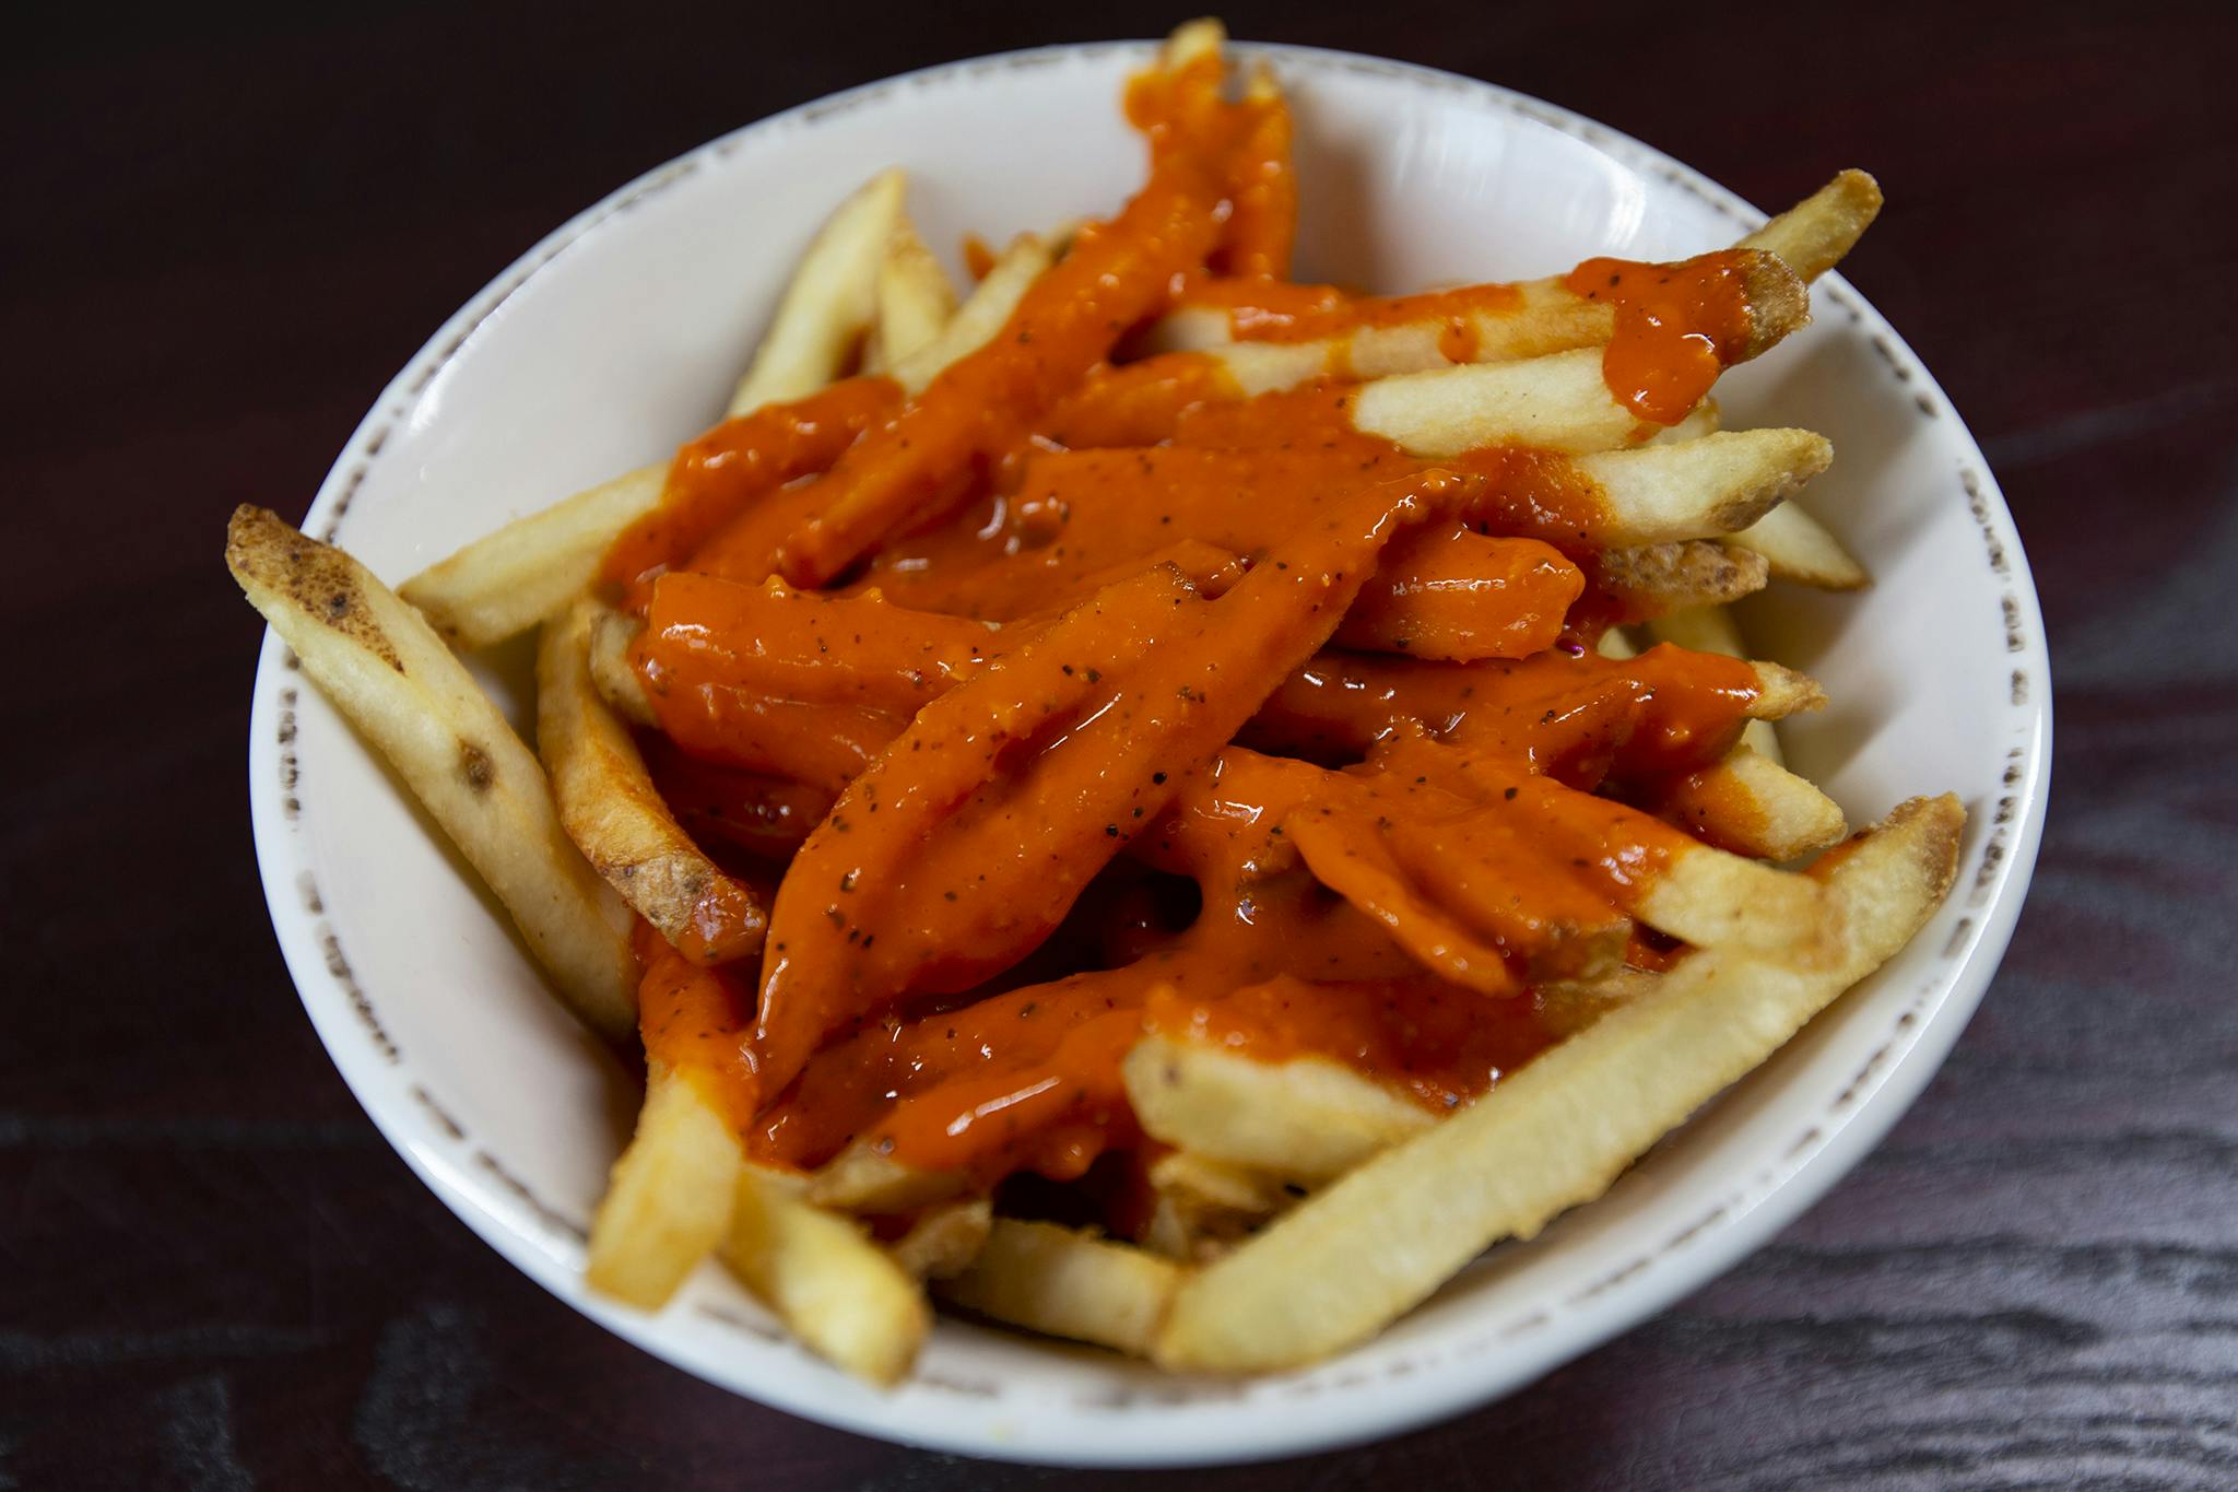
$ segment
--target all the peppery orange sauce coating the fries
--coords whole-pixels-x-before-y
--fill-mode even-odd
[[[1148,183],[985,349],[906,403],[857,378],[718,425],[606,559],[656,785],[725,863],[783,866],[759,980],[636,937],[647,1054],[763,1161],[871,1145],[980,1190],[1139,1161],[1144,1031],[1446,1109],[1558,1038],[1540,982],[1674,955],[1629,910],[1694,841],[1618,799],[1710,792],[1757,678],[1585,646],[1607,514],[1573,463],[1432,465],[1343,383],[1110,362],[1177,302],[1468,360],[1522,293],[1287,284],[1280,101],[1206,60],[1128,114]],[[1647,418],[1748,336],[1730,264],[1571,289],[1616,304]]]

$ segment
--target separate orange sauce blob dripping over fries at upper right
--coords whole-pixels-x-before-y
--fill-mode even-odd
[[[1600,360],[1609,394],[1643,421],[1676,425],[1719,371],[1743,356],[1752,318],[1748,255],[1708,253],[1683,264],[1587,259],[1562,282],[1616,306],[1616,336]]]

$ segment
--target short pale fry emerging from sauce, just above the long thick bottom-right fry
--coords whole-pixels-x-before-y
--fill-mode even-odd
[[[1146,1036],[1121,1071],[1135,1118],[1153,1139],[1305,1186],[1435,1123],[1419,1103],[1327,1058],[1256,1063]]]

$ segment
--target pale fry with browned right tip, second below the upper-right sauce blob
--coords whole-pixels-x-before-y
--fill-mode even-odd
[[[1678,445],[1573,459],[1607,508],[1609,548],[1710,539],[1748,528],[1833,463],[1808,429],[1723,429]]]

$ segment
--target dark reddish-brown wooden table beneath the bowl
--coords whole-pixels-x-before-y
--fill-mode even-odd
[[[971,11],[11,18],[0,1488],[1130,1481],[819,1429],[546,1297],[342,1089],[248,846],[226,510],[300,512],[421,338],[640,170],[882,74],[1175,18]],[[2231,13],[1231,7],[1757,201],[1880,172],[1853,280],[2012,499],[2059,752],[1987,1004],[1775,1246],[1502,1405],[1206,1485],[2238,1483]]]

